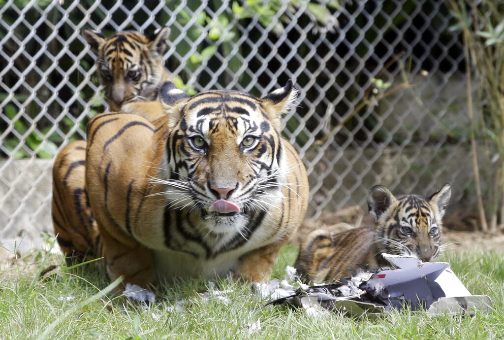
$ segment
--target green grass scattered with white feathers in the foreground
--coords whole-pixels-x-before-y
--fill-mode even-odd
[[[292,264],[295,247],[283,249],[274,276]],[[124,298],[107,298],[111,288],[93,264],[66,269],[60,255],[35,253],[17,266],[0,272],[0,339],[486,339],[504,336],[504,257],[496,252],[448,253],[443,260],[469,291],[489,295],[493,311],[475,316],[428,317],[403,310],[368,320],[337,313],[307,316],[302,310],[266,306],[249,284],[216,281],[219,290],[232,290],[230,302],[216,297],[203,301],[198,292],[209,289],[203,279],[187,280],[165,289],[163,301],[148,309]],[[58,267],[37,278],[41,266]],[[210,287],[210,289],[212,289]],[[183,309],[175,308],[183,299]],[[178,302],[177,302],[178,301]],[[105,302],[105,303],[104,303]],[[110,305],[113,307],[110,308]],[[251,325],[260,325],[250,332]]]

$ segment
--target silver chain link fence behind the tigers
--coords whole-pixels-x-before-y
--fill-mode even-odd
[[[436,0],[2,2],[0,242],[52,230],[52,159],[107,110],[83,28],[170,27],[164,60],[186,89],[264,96],[292,79],[299,105],[283,131],[309,174],[307,217],[363,207],[379,183],[427,195],[449,182],[452,207],[470,206],[465,62],[453,24]]]

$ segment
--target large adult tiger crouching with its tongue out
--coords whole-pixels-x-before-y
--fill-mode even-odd
[[[193,97],[166,83],[166,116],[95,116],[56,158],[53,224],[67,256],[104,256],[111,279],[261,281],[307,208],[306,172],[280,135],[292,82],[264,98]],[[85,147],[85,150],[84,150]]]

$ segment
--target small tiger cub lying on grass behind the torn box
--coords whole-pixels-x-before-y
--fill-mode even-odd
[[[429,198],[394,195],[384,186],[369,190],[367,204],[375,224],[332,235],[312,231],[301,243],[295,267],[307,281],[333,281],[352,275],[358,264],[390,266],[382,253],[414,256],[424,262],[439,254],[442,217],[451,196],[449,184]]]

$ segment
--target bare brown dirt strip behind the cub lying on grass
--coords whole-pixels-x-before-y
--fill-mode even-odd
[[[359,206],[323,212],[317,220],[308,219],[303,222],[295,242],[300,242],[307,233],[321,226],[338,232],[353,228],[352,226],[372,224],[367,212]],[[495,250],[504,254],[504,230],[495,234],[482,233],[478,216],[461,211],[445,216],[442,240],[443,244],[450,243],[446,251]]]

